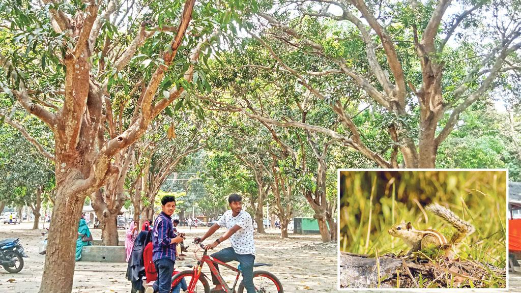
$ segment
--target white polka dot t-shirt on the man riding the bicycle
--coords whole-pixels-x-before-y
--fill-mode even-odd
[[[237,217],[234,217],[232,211],[228,210],[224,215],[222,215],[217,224],[226,229],[239,225],[241,229],[229,238],[233,250],[237,254],[255,255],[255,245],[253,244],[253,224],[252,217],[249,213],[241,211]]]

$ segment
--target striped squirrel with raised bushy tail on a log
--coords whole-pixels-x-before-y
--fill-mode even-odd
[[[411,247],[411,250],[407,255],[411,255],[413,252],[418,250],[433,247],[442,250],[446,257],[452,257],[452,246],[460,243],[465,236],[472,234],[475,231],[474,226],[463,221],[454,212],[437,203],[429,204],[425,209],[441,217],[447,223],[456,228],[456,231],[452,234],[449,241],[447,241],[443,234],[436,230],[416,230],[411,225],[411,222],[395,225],[388,230],[389,234],[393,237],[402,238],[407,246]]]

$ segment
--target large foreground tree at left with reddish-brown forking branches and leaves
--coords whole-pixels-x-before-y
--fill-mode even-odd
[[[209,36],[214,27],[227,28],[232,7],[221,3],[228,9],[219,11],[217,3],[193,0],[0,5],[2,97],[38,117],[55,140],[56,196],[40,292],[70,292],[85,197],[120,176],[115,156],[191,82],[204,86],[203,75],[195,75],[197,60],[208,58]],[[138,114],[110,131],[118,114],[114,105],[121,105],[113,87],[127,83],[138,68],[139,86],[125,91],[133,102],[119,108]]]

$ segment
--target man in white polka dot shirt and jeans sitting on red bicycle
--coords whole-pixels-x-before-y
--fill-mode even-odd
[[[253,243],[252,217],[246,211],[242,211],[242,198],[237,193],[232,193],[228,197],[230,210],[226,211],[219,219],[219,222],[208,229],[203,237],[195,238],[195,242],[202,242],[212,236],[219,227],[226,227],[228,231],[217,238],[213,243],[207,245],[205,249],[213,249],[222,241],[230,238],[231,246],[210,255],[222,262],[238,261],[241,265],[242,278],[244,280],[247,293],[254,293],[253,285],[253,263],[255,261],[255,246]],[[219,269],[215,264],[217,270]],[[212,293],[224,292],[222,285],[212,274],[212,281],[216,287]]]

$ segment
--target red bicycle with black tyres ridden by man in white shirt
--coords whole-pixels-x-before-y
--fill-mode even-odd
[[[194,242],[195,243],[195,242]],[[201,248],[204,249],[204,246],[201,243],[199,244]],[[227,263],[221,262],[218,259],[212,258],[207,255],[207,250],[205,249],[203,252],[203,257],[197,261],[197,265],[193,267],[193,270],[182,271],[175,276],[172,277],[172,287],[176,286],[179,282],[181,282],[182,278],[185,278],[187,282],[188,289],[185,292],[188,293],[210,293],[210,281],[211,278],[208,278],[203,272],[203,265],[207,264],[210,268],[210,271],[214,273],[214,275],[219,280],[219,283],[222,285],[225,293],[246,293],[244,288],[244,280],[241,280],[237,291],[235,291],[235,286],[237,286],[237,282],[239,281],[239,276],[241,275],[241,270],[238,267],[233,267]],[[219,271],[215,267],[214,263],[219,264],[221,266],[225,266],[230,270],[237,273],[235,280],[233,282],[233,286],[230,288],[225,280],[220,275]],[[270,264],[265,263],[255,263],[254,267],[266,266]],[[255,285],[255,292],[258,293],[283,293],[282,284],[280,280],[270,272],[267,271],[254,271],[253,272],[253,284]]]

